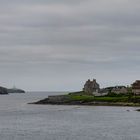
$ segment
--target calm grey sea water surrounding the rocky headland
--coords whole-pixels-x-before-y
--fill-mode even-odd
[[[140,140],[136,108],[27,104],[49,94],[1,95],[0,140]]]

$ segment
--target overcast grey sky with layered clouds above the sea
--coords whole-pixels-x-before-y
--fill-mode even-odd
[[[80,90],[140,79],[139,0],[0,0],[0,85]]]

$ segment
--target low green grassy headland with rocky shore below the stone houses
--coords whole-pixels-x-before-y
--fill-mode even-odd
[[[51,96],[35,104],[140,106],[140,96],[113,93],[106,96],[93,96],[81,91],[67,95]]]

